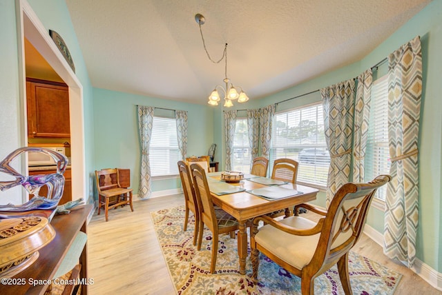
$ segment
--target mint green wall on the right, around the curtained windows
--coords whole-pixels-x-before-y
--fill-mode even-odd
[[[410,41],[416,35],[421,36],[423,48],[423,101],[421,110],[421,134],[419,145],[419,231],[417,236],[417,257],[441,272],[442,270],[442,236],[441,223],[441,162],[442,162],[442,1],[432,1],[421,12],[416,14],[403,27],[394,32],[391,37],[378,45],[361,61],[311,79],[293,88],[259,100],[260,106],[278,103],[299,94],[304,94],[323,88],[327,85],[344,81],[358,76],[361,72],[378,63],[390,52]],[[387,72],[387,63],[381,65],[380,76]],[[381,74],[382,73],[382,74]],[[376,73],[375,73],[376,77]],[[302,96],[298,99],[281,103],[276,111],[296,108],[320,101],[318,92]],[[238,106],[238,108],[241,108]],[[256,105],[247,105],[256,108]],[[221,126],[220,126],[221,127]],[[325,205],[325,194],[318,194],[318,205]],[[367,224],[378,232],[383,232],[383,212],[372,207],[369,211]]]

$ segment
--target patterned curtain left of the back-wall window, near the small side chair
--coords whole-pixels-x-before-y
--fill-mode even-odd
[[[151,166],[149,164],[149,148],[152,135],[153,108],[138,105],[138,129],[140,131],[141,169],[138,197],[147,199],[151,196]]]

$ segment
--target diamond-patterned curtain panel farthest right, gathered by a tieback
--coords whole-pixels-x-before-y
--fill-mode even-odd
[[[385,201],[384,253],[416,258],[419,213],[418,135],[422,94],[421,40],[416,37],[388,57],[390,175]]]

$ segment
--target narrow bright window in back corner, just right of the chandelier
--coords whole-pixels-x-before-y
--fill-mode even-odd
[[[232,153],[232,171],[250,173],[251,148],[249,144],[247,118],[236,119],[235,138],[233,139]]]

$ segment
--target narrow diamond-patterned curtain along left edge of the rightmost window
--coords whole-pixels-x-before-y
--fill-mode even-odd
[[[358,77],[356,101],[354,103],[354,145],[353,181],[363,183],[365,176],[365,149],[367,147],[368,121],[372,96],[372,70],[366,70]]]

